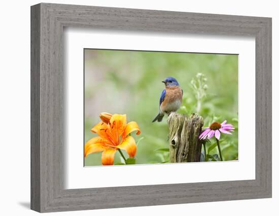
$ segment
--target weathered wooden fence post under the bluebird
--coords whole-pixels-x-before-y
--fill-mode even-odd
[[[190,117],[172,112],[167,118],[169,126],[169,162],[198,162],[201,142],[198,137],[203,118],[195,113]]]

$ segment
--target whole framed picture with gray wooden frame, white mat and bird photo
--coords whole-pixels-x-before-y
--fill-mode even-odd
[[[271,197],[271,18],[31,7],[31,209]]]

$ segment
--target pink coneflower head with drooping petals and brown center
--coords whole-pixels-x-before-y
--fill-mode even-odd
[[[199,139],[211,139],[213,136],[216,137],[217,140],[220,140],[221,133],[231,134],[233,132],[234,127],[232,124],[226,124],[227,120],[223,121],[221,124],[219,122],[213,122],[209,127],[205,127],[205,130],[200,134]]]

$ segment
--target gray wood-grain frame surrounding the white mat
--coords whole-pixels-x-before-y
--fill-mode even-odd
[[[255,36],[256,179],[65,190],[63,27],[67,26]],[[44,3],[31,6],[31,209],[50,212],[268,198],[271,129],[271,18]]]

